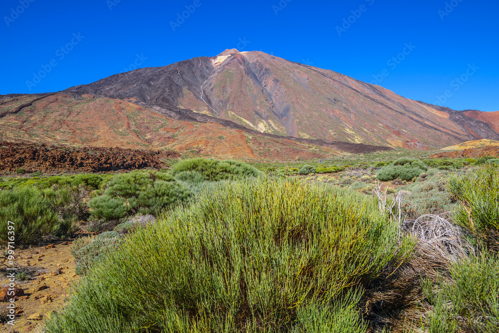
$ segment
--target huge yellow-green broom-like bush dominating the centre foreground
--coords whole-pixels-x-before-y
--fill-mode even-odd
[[[362,287],[413,246],[398,235],[360,194],[231,183],[128,236],[46,331],[364,333]]]

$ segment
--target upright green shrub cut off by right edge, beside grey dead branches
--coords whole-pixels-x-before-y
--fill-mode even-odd
[[[499,252],[499,168],[486,165],[464,176],[451,175],[449,190],[461,203],[454,222],[483,250]]]

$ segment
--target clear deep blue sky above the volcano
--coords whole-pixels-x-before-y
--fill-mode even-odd
[[[497,111],[498,12],[491,0],[2,0],[0,94],[239,48]]]

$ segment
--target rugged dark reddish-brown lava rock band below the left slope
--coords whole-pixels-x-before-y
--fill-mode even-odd
[[[46,144],[0,141],[0,173],[23,168],[33,171],[72,170],[106,172],[162,168],[165,159],[178,158],[173,151],[133,150],[122,148],[68,148]]]

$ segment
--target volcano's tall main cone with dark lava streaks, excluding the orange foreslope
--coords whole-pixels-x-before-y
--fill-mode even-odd
[[[133,100],[179,120],[294,138],[406,148],[415,142],[442,148],[499,139],[497,115],[410,100],[332,70],[258,51],[226,50],[64,92]]]

